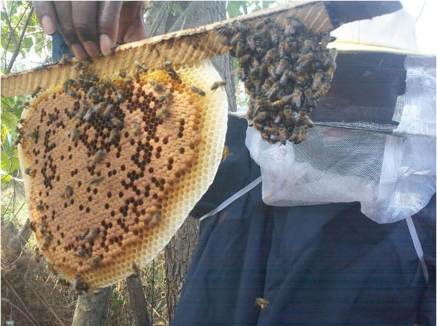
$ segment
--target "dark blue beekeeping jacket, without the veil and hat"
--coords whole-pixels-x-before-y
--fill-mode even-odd
[[[228,158],[191,216],[260,176],[246,128],[229,117]],[[257,185],[201,222],[172,326],[435,325],[435,195],[413,221],[428,285],[405,220],[377,224],[359,202],[270,207]]]

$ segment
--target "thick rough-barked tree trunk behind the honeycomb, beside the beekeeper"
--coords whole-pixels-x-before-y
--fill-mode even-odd
[[[183,12],[179,16],[171,14],[171,6],[180,5]],[[183,7],[182,7],[183,6]],[[184,10],[184,8],[186,8]],[[178,17],[177,17],[178,16]],[[171,1],[156,5],[150,12],[150,36],[156,36],[187,28],[197,27],[226,19],[226,1]],[[175,19],[177,17],[177,19]],[[173,23],[174,22],[174,23]],[[171,25],[173,23],[173,25]],[[169,25],[171,27],[169,28]],[[211,59],[213,66],[226,81],[228,108],[235,111],[235,78],[231,56],[217,56]],[[215,80],[211,80],[211,84]],[[173,319],[191,256],[198,243],[198,220],[187,218],[173,239],[164,249],[165,273],[167,279],[167,308],[169,323]]]

